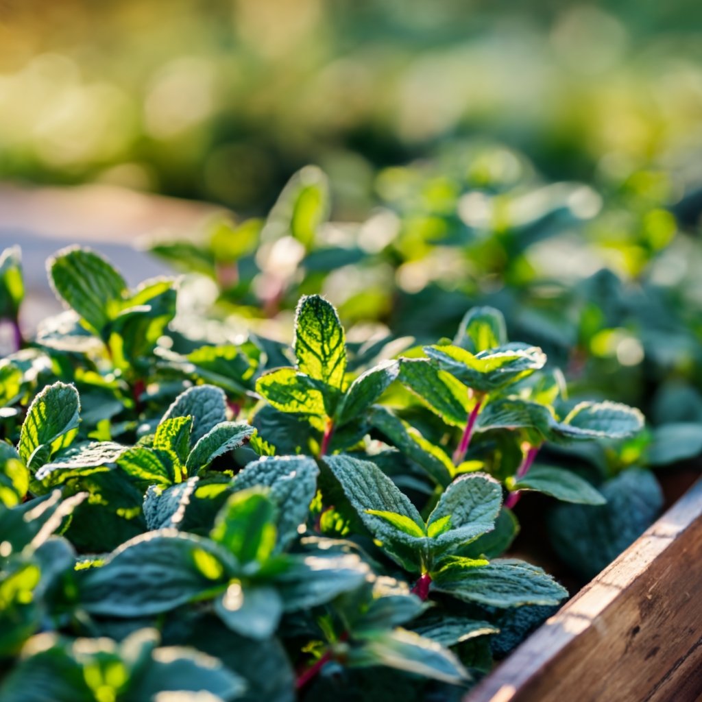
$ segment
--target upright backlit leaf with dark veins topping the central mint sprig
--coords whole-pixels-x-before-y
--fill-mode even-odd
[[[318,295],[300,299],[293,348],[300,371],[313,380],[343,390],[346,338],[331,303]]]

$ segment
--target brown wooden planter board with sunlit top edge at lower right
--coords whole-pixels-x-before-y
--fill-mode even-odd
[[[702,699],[702,481],[464,702]]]

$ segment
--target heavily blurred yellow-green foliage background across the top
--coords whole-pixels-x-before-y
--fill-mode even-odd
[[[702,181],[696,0],[3,0],[0,178],[107,181],[244,213],[308,163],[373,173],[494,138],[552,180]]]

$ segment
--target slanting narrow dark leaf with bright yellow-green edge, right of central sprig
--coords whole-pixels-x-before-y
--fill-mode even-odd
[[[437,485],[446,487],[451,483],[453,463],[439,446],[425,439],[415,428],[383,406],[371,407],[366,416],[395,448],[424,468]]]

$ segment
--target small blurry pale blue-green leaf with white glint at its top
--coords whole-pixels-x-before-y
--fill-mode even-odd
[[[275,588],[232,583],[215,601],[215,611],[232,630],[257,641],[271,637],[283,614],[283,603]]]

